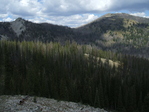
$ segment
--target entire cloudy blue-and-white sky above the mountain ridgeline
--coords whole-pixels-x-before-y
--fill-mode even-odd
[[[149,0],[0,0],[0,21],[18,17],[78,27],[107,13],[149,17]]]

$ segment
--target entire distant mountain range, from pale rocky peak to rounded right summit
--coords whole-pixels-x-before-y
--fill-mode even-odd
[[[78,28],[32,23],[22,18],[0,23],[0,39],[19,41],[76,41],[103,50],[149,57],[149,18],[125,13],[106,14]]]

